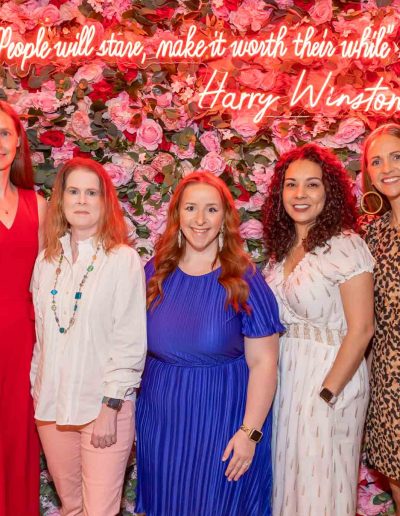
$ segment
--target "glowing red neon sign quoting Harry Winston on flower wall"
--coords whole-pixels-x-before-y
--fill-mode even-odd
[[[361,35],[343,36],[341,41],[333,41],[328,29],[318,31],[313,26],[296,29],[282,25],[267,35],[257,37],[233,37],[223,31],[215,31],[212,36],[200,34],[196,25],[187,27],[184,37],[168,34],[157,44],[151,37],[143,37],[114,32],[99,35],[94,25],[84,26],[75,34],[62,37],[55,29],[41,27],[36,34],[23,41],[10,27],[0,27],[0,57],[8,64],[14,64],[26,72],[33,64],[63,60],[70,64],[71,59],[84,62],[88,57],[105,61],[118,59],[124,64],[131,63],[137,68],[146,68],[153,63],[190,62],[206,67],[207,82],[198,86],[196,101],[202,109],[216,107],[228,111],[251,109],[255,111],[254,122],[259,123],[271,111],[276,115],[284,102],[290,108],[307,108],[318,111],[323,104],[328,107],[347,107],[352,110],[381,111],[392,113],[400,111],[400,90],[392,90],[384,83],[384,78],[365,88],[353,88],[352,93],[343,92],[335,84],[336,77],[327,68],[319,85],[309,82],[306,70],[302,70],[293,80],[284,95],[274,91],[273,86],[247,89],[243,84],[230,84],[230,76],[235,77],[234,60],[240,66],[263,64],[271,65],[278,74],[284,75],[285,60],[296,60],[299,65],[303,59],[314,59],[321,65],[336,60],[379,60],[384,66],[397,61],[399,48],[395,41],[397,27],[381,26],[377,29],[366,27]],[[213,62],[222,59],[230,63],[228,69],[216,69]],[[234,72],[232,72],[234,70]],[[266,72],[268,73],[268,72]]]

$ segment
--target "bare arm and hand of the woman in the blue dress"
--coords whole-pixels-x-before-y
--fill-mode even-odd
[[[245,356],[249,367],[246,410],[243,425],[261,430],[272,405],[276,389],[278,334],[262,338],[245,338]],[[238,429],[226,447],[222,460],[233,452],[225,475],[228,480],[238,480],[247,471],[257,444]]]

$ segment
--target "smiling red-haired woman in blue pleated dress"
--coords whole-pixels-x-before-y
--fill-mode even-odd
[[[137,406],[137,512],[271,514],[279,322],[219,178],[178,185],[146,266],[148,358]]]

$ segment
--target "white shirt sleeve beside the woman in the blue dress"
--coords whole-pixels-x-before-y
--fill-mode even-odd
[[[137,252],[123,246],[117,253],[112,345],[105,368],[104,396],[124,399],[139,387],[145,363],[146,285]]]

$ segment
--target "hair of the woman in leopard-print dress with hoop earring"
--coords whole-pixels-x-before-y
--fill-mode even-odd
[[[379,215],[383,215],[391,209],[390,202],[386,195],[383,195],[381,192],[378,192],[378,190],[372,184],[371,178],[368,174],[368,150],[371,144],[376,140],[376,138],[379,138],[379,136],[383,136],[385,134],[389,134],[390,136],[394,136],[395,138],[398,138],[400,140],[400,125],[385,124],[381,125],[380,127],[377,127],[364,140],[363,152],[361,156],[363,192],[376,192],[381,196],[383,200],[382,208],[379,210],[379,212],[376,212],[376,210],[379,208],[381,203],[376,195],[366,195],[364,199],[364,204],[367,206],[368,211],[376,212]]]

